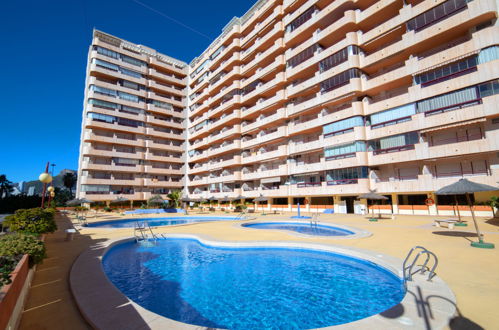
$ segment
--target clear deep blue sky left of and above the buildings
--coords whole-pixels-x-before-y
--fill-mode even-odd
[[[190,62],[253,0],[28,0],[0,5],[0,174],[33,180],[51,161],[77,169],[85,66],[95,27]]]

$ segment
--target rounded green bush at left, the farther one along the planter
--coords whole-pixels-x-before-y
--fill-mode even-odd
[[[54,209],[21,209],[6,217],[6,225],[11,231],[29,234],[53,233],[57,229]]]

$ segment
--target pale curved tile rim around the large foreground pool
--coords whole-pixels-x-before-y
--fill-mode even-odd
[[[343,254],[348,257],[360,258],[373,262],[388,271],[402,276],[400,259],[377,252],[345,247],[340,245],[325,245],[321,243],[298,243],[298,242],[227,242],[214,241],[200,235],[168,235],[172,238],[195,239],[202,244],[216,247],[284,247],[298,249],[312,249],[329,251]],[[103,243],[99,248],[88,249],[75,261],[70,273],[70,287],[75,301],[85,319],[98,329],[113,329],[119,326],[121,329],[151,328],[151,329],[199,329],[199,326],[177,322],[159,314],[153,313],[131,301],[119,291],[107,278],[102,267],[103,255],[116,244],[132,240],[116,239]],[[365,329],[389,328],[406,329],[411,325],[415,328],[424,328],[425,319],[418,316],[421,299],[439,297],[440,300],[431,305],[433,318],[426,320],[433,329],[441,329],[448,325],[452,316],[455,315],[455,296],[450,288],[440,278],[435,277],[432,282],[427,282],[420,276],[416,276],[413,282],[408,282],[408,292],[392,310],[373,315],[351,323],[331,326],[323,329]],[[400,312],[402,311],[402,312]]]

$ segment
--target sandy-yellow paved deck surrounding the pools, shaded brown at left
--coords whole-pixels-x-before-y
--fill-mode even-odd
[[[213,213],[212,213],[213,214]],[[217,216],[233,214],[215,213]],[[205,214],[191,213],[192,216]],[[207,214],[206,214],[207,215]],[[289,220],[291,214],[252,216],[260,220]],[[156,215],[157,216],[157,215]],[[167,217],[178,216],[175,214]],[[151,217],[150,215],[148,217]],[[111,215],[89,219],[89,222],[109,218]],[[135,216],[135,218],[138,218]],[[294,241],[305,243],[334,244],[377,251],[399,259],[415,245],[422,245],[439,258],[437,274],[453,290],[457,298],[459,317],[452,329],[497,329],[499,313],[499,220],[479,218],[479,226],[485,241],[494,243],[496,249],[477,249],[470,246],[476,240],[470,218],[468,227],[433,227],[428,216],[396,216],[369,222],[357,215],[320,215],[324,223],[337,223],[367,230],[373,235],[356,239],[309,238],[273,230],[248,230],[235,225],[234,221],[217,221],[189,225],[158,227],[157,233],[193,234],[217,241]],[[20,329],[88,329],[90,326],[81,316],[72,297],[68,278],[76,258],[88,248],[100,247],[109,240],[133,235],[133,228],[107,229],[83,227],[73,241],[65,241],[64,229],[73,224],[66,216],[58,215],[59,230],[46,238],[48,259],[37,268],[29,298],[22,315]],[[76,222],[75,222],[76,225]]]

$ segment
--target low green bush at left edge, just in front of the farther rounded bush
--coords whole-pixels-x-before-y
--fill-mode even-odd
[[[33,235],[13,233],[0,236],[0,255],[18,257],[29,255],[30,266],[39,264],[45,258],[45,245]]]

